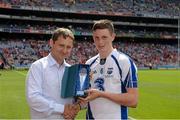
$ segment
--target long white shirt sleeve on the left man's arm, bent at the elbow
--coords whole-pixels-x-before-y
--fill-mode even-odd
[[[42,94],[43,74],[38,64],[32,64],[26,78],[26,97],[31,109],[45,115],[64,112],[64,105],[58,104]]]

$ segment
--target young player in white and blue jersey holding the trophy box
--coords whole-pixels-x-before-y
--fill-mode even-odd
[[[93,25],[98,55],[89,59],[92,72],[87,119],[127,119],[127,107],[138,103],[137,68],[131,58],[113,49],[114,26],[109,20]]]

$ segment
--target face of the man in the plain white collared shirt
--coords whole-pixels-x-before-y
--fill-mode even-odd
[[[65,58],[69,57],[73,47],[73,40],[70,37],[59,36],[56,41],[51,40],[50,44],[52,56],[61,64]]]

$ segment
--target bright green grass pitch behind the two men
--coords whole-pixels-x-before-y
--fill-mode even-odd
[[[0,119],[29,119],[27,71],[0,71]],[[139,70],[139,103],[134,119],[180,119],[180,70]],[[85,118],[85,110],[77,119]]]

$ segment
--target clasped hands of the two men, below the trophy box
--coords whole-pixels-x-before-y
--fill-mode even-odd
[[[78,104],[66,104],[63,116],[65,119],[74,119],[79,110],[80,106]]]

